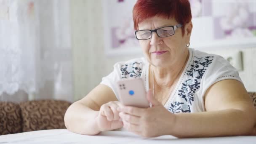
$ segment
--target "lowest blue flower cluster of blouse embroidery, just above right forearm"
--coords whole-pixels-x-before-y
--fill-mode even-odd
[[[171,107],[169,107],[168,110],[172,113],[191,112],[189,105],[187,105],[187,107],[184,106],[184,102],[175,101],[174,104],[171,104]]]

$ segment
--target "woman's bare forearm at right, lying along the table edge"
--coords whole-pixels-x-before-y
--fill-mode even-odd
[[[176,115],[175,125],[169,133],[179,138],[248,135],[254,125],[254,113],[250,115],[236,109],[182,113]]]

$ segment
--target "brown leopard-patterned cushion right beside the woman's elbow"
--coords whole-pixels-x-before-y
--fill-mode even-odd
[[[23,132],[66,128],[64,114],[69,105],[67,101],[56,100],[21,102]]]

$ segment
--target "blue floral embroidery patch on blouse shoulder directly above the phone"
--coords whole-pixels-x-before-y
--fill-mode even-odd
[[[132,64],[121,65],[121,77],[140,77],[142,73],[141,62],[133,62]]]

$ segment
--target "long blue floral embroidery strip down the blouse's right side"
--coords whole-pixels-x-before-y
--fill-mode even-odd
[[[181,90],[178,91],[178,96],[184,99],[184,101],[174,101],[174,104],[172,103],[168,109],[170,112],[191,112],[190,106],[192,106],[192,101],[194,101],[194,94],[200,88],[201,79],[207,67],[209,67],[213,61],[213,56],[205,56],[202,58],[195,56],[194,58],[190,69],[186,71],[186,75],[188,76],[187,80],[182,83]]]

